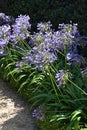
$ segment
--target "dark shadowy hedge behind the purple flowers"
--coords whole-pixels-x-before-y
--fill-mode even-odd
[[[57,29],[59,23],[78,23],[81,35],[87,35],[87,0],[0,0],[0,11],[17,17],[29,14],[32,30],[41,21],[51,21]]]

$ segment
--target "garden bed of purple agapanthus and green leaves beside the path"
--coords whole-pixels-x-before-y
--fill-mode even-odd
[[[32,103],[41,130],[87,128],[87,37],[77,24],[40,22],[31,34],[28,15],[0,20],[1,76]]]

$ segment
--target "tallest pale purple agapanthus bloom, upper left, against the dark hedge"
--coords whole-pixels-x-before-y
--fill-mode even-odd
[[[26,15],[20,15],[15,20],[15,24],[12,25],[12,35],[10,36],[11,42],[17,43],[21,39],[24,40],[29,37],[29,29],[31,24],[29,23],[30,17]]]

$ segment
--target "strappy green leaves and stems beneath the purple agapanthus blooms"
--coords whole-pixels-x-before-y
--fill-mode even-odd
[[[22,58],[26,57],[31,49],[25,41],[18,42],[13,48],[9,43],[8,55],[0,59],[2,77],[32,102],[31,109],[43,107],[45,118],[43,121],[37,121],[42,130],[87,128],[87,77],[82,77],[79,64],[67,64],[67,46],[64,52],[59,51],[57,60],[49,63],[43,70],[23,61]],[[59,70],[64,70],[62,85],[59,85],[55,78]]]

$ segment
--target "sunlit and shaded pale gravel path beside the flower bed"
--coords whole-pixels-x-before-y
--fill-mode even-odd
[[[0,130],[39,130],[29,106],[0,79]]]

